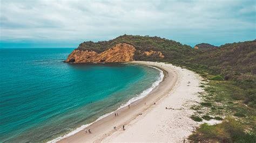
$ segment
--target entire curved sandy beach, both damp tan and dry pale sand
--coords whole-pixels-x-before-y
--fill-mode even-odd
[[[86,127],[59,142],[171,141],[181,142],[198,124],[190,119],[190,110],[200,99],[200,77],[171,64],[134,61],[132,63],[164,70],[164,80],[149,95]],[[190,81],[190,83],[188,83]],[[146,103],[146,104],[145,104]],[[154,104],[156,103],[156,104]],[[165,109],[165,108],[170,109]],[[142,113],[142,115],[139,115]],[[123,125],[125,130],[123,131]],[[114,130],[113,126],[117,126]]]

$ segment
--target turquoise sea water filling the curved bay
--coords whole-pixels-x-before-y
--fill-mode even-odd
[[[0,142],[43,142],[118,109],[159,78],[130,64],[68,64],[71,48],[0,49]]]

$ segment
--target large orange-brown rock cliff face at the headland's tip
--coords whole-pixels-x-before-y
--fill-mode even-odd
[[[102,53],[75,49],[64,62],[127,62],[133,61],[135,47],[120,43]]]

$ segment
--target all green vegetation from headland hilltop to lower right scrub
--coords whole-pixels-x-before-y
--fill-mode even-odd
[[[134,60],[172,63],[205,78],[200,85],[205,92],[199,93],[203,102],[191,108],[196,110],[191,119],[228,118],[221,124],[201,125],[191,140],[256,142],[256,40],[220,47],[200,44],[197,50],[165,38],[122,35],[109,41],[83,42],[78,49],[103,52],[120,42],[137,49]],[[140,53],[150,50],[162,52],[165,58]]]

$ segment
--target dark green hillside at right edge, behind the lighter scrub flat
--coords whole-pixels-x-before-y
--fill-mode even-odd
[[[226,81],[232,81],[239,89],[239,92],[234,91],[233,98],[256,108],[255,40],[208,49],[191,56],[180,64],[221,76]]]

